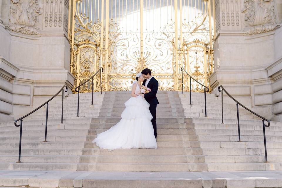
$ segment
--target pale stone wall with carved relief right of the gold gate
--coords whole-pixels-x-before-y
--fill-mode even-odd
[[[282,69],[273,66],[282,56],[281,4],[281,0],[215,3],[215,71],[210,76],[213,93],[218,94],[217,87],[224,85],[237,100],[273,120],[281,113],[273,105],[277,103],[273,93],[281,90],[276,87],[279,76],[270,73]]]

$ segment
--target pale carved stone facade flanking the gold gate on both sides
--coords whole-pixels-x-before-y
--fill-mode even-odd
[[[213,93],[282,121],[282,1],[215,0]],[[0,0],[0,122],[50,98],[70,73],[68,0]],[[71,92],[71,90],[69,90]]]

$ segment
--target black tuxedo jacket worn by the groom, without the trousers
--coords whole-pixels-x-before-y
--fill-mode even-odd
[[[143,81],[142,85],[145,85],[145,84],[146,84],[146,80]],[[151,92],[144,94],[144,98],[147,100],[147,102],[150,105],[159,104],[159,101],[158,101],[157,96],[156,96],[158,88],[159,88],[159,82],[153,77],[153,78],[150,79],[150,81],[147,85],[147,88],[150,88]]]

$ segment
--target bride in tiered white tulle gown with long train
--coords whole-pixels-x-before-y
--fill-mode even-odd
[[[157,148],[154,129],[151,119],[153,118],[149,103],[140,94],[143,75],[138,73],[132,85],[131,98],[125,102],[122,119],[109,130],[97,135],[93,143],[102,149],[109,151],[118,148]]]

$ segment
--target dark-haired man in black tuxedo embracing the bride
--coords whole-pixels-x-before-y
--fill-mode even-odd
[[[156,110],[157,110],[157,104],[159,104],[159,101],[156,95],[157,95],[157,91],[159,88],[159,82],[152,76],[152,72],[148,68],[145,68],[144,70],[142,70],[141,74],[145,78],[142,85],[145,85],[147,88],[151,89],[151,92],[144,94],[144,98],[150,104],[149,110],[153,116],[153,119],[151,120],[151,122],[153,124],[155,138],[157,138]]]

